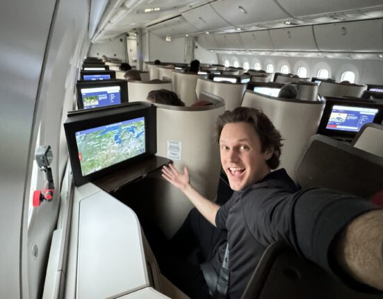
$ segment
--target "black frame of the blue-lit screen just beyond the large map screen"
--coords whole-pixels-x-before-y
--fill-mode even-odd
[[[119,86],[120,87],[120,99],[121,103],[128,103],[128,87],[127,81],[122,79],[110,79],[110,80],[87,80],[87,81],[77,81],[76,90],[77,90],[77,107],[79,109],[84,109],[83,105],[83,95],[81,94],[81,89],[83,88],[97,88],[97,87],[109,87],[109,86]],[[116,104],[120,105],[120,104]],[[115,105],[113,105],[115,106]],[[108,106],[106,106],[108,107]],[[100,107],[97,107],[100,108]],[[86,110],[92,110],[97,108],[89,108]]]

